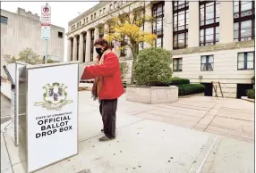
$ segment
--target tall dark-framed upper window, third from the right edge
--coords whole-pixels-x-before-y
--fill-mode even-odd
[[[175,1],[174,6],[174,49],[188,45],[189,2]]]

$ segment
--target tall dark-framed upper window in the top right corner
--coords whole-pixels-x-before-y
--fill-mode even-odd
[[[234,42],[252,40],[255,37],[255,2],[234,2]]]

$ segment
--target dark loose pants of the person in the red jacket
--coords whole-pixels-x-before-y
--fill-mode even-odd
[[[108,138],[115,138],[116,108],[117,99],[99,101],[99,112],[102,116],[104,134]]]

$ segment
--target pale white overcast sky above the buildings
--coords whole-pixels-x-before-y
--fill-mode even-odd
[[[17,8],[23,8],[26,12],[38,13],[41,16],[41,6],[46,2],[1,2],[1,8],[9,11],[16,12]],[[94,5],[98,4],[98,1],[91,2],[48,2],[51,6],[51,23],[53,25],[62,27],[65,29],[65,33],[68,29],[68,22],[77,17],[79,12],[85,12]],[[64,61],[66,60],[66,37],[64,37]]]

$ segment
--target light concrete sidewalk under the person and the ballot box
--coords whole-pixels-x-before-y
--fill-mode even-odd
[[[254,172],[254,144],[139,117],[152,110],[152,105],[127,102],[125,95],[118,102],[117,137],[99,143],[102,121],[98,102],[90,99],[90,92],[80,92],[79,154],[38,172]],[[18,157],[4,126],[1,156],[8,158],[4,162],[1,157],[1,164],[5,164],[1,172],[23,173],[24,160]]]

